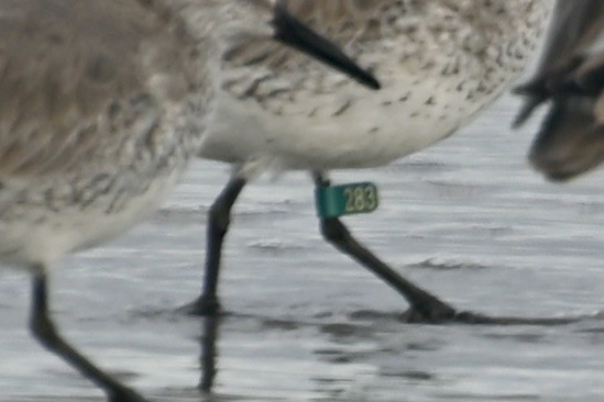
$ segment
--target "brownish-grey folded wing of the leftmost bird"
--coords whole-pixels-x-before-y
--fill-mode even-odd
[[[107,146],[101,120],[145,93],[158,58],[145,46],[166,41],[165,23],[131,0],[2,0],[0,180],[56,174]]]

